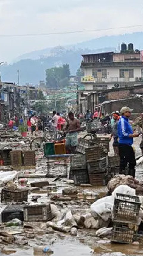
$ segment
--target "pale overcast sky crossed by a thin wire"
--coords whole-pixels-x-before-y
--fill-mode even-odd
[[[0,36],[139,24],[143,24],[142,0],[0,0]],[[143,31],[143,26],[77,34],[0,37],[0,61],[11,61],[26,52],[51,46],[135,31]]]

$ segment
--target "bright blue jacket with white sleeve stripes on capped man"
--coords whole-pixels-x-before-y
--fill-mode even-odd
[[[133,138],[129,138],[129,134],[133,134],[132,126],[129,124],[129,119],[122,116],[118,122],[119,143],[131,146]]]

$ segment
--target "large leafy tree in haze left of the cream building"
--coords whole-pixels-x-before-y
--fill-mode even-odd
[[[64,87],[62,80],[69,78],[70,69],[69,64],[65,64],[62,67],[55,67],[51,69],[46,69],[46,85],[48,88],[59,88]],[[64,83],[65,84],[65,83]]]

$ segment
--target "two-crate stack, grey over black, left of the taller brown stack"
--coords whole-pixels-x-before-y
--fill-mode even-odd
[[[77,154],[70,157],[70,173],[71,172],[75,185],[89,183],[85,154]]]

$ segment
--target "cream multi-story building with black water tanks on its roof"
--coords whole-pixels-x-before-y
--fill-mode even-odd
[[[84,54],[81,82],[85,90],[106,90],[143,84],[143,51],[121,45],[119,53]]]

